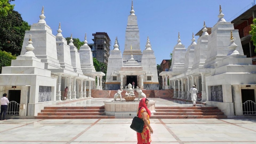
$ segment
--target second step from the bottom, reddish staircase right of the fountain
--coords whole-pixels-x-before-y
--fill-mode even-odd
[[[223,115],[222,112],[155,112],[154,115]]]

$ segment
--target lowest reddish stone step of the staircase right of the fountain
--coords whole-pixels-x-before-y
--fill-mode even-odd
[[[152,118],[168,118],[168,119],[174,119],[174,118],[227,118],[226,115],[152,115],[150,119]]]

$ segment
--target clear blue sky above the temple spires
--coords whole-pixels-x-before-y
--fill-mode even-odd
[[[224,18],[228,21],[253,0],[134,0],[134,11],[138,18],[141,50],[145,49],[149,36],[156,62],[170,59],[169,55],[177,43],[178,31],[181,43],[187,48],[191,43],[192,32],[196,34],[203,27],[213,27],[218,21],[219,5]],[[123,52],[127,17],[131,10],[131,0],[16,0],[14,10],[30,25],[37,23],[42,6],[46,23],[57,34],[59,22],[63,37],[84,40],[87,33],[88,43],[93,43],[92,34],[106,32],[113,49],[118,37]],[[198,36],[195,37],[198,39]]]

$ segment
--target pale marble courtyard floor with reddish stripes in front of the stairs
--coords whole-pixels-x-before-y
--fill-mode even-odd
[[[135,144],[132,119],[7,119],[0,144]],[[256,144],[256,119],[151,119],[152,144]]]

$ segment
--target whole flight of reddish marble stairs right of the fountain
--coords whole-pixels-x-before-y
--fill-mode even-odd
[[[155,111],[150,118],[227,118],[218,107],[158,106]]]

